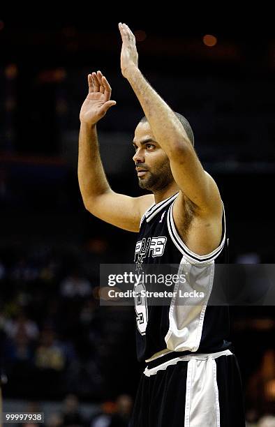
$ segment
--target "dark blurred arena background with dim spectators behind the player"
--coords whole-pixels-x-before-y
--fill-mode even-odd
[[[133,16],[142,73],[190,121],[218,183],[230,262],[274,263],[274,34]],[[98,125],[107,177],[120,193],[143,194],[131,145],[143,112],[120,72],[123,19],[0,16],[4,410],[43,410],[47,426],[126,426],[144,369],[133,307],[98,302],[99,265],[132,262],[136,235],[85,211],[77,183],[79,112],[99,69],[117,101]],[[247,425],[274,426],[274,307],[230,313]]]

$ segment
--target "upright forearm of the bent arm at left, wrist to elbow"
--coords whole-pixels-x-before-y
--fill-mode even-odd
[[[110,189],[99,153],[96,125],[80,125],[77,172],[84,204]]]

